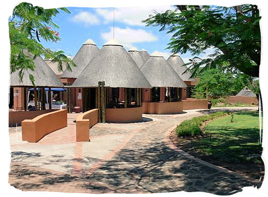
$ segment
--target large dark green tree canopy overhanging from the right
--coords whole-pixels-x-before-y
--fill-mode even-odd
[[[214,49],[208,58],[190,59],[187,64],[191,65],[192,77],[217,66],[226,71],[259,77],[261,17],[256,5],[176,7],[174,11],[155,12],[143,22],[147,26],[160,26],[159,31],[167,30],[172,34],[167,47],[172,53],[190,51],[192,56],[196,56],[206,49]]]

